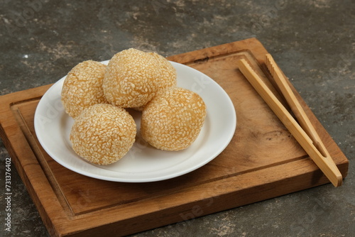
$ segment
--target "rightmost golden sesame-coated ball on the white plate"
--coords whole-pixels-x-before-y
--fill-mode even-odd
[[[196,140],[205,117],[206,106],[198,94],[174,87],[144,107],[141,136],[160,150],[182,150]]]

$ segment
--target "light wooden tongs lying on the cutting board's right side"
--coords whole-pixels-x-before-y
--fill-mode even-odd
[[[327,148],[325,148],[322,143],[317,131],[315,131],[315,128],[312,126],[310,119],[302,109],[300,102],[295,97],[295,94],[293,94],[287,79],[285,79],[283,73],[276,65],[273,57],[271,57],[270,54],[266,55],[266,66],[299,123],[295,121],[295,118],[285,109],[285,106],[275,97],[271,89],[269,89],[256,72],[254,72],[246,60],[241,59],[237,64],[239,70],[241,70],[246,79],[248,79],[254,89],[256,89],[256,92],[266,101],[266,104],[270,106],[280,121],[288,128],[288,131],[290,131],[297,142],[300,143],[315,164],[320,167],[324,175],[327,176],[335,187],[341,186],[342,174],[329,155]]]

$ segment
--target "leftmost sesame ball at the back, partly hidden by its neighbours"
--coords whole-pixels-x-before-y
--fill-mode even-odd
[[[62,104],[67,114],[76,118],[88,106],[108,103],[102,89],[105,69],[101,62],[87,60],[70,70],[62,87]]]

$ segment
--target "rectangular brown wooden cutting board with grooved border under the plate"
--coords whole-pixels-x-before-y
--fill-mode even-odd
[[[124,236],[328,183],[236,66],[236,60],[248,60],[272,87],[266,53],[251,38],[168,57],[224,88],[234,103],[237,127],[212,162],[160,182],[95,180],[50,158],[35,136],[33,116],[51,85],[0,97],[1,138],[49,233]],[[204,88],[203,82],[197,86]],[[299,94],[297,98],[346,177],[348,160]]]

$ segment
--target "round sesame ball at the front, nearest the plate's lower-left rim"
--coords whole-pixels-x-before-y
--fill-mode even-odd
[[[109,165],[124,157],[135,137],[136,123],[132,116],[111,104],[84,109],[70,131],[75,153],[97,165]]]

